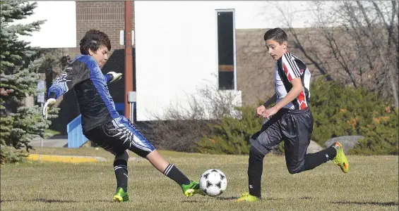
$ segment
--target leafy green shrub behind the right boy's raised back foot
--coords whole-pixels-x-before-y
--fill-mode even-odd
[[[311,84],[310,101],[311,139],[319,145],[336,136],[362,135],[350,153],[398,154],[398,113],[389,99],[321,77]]]

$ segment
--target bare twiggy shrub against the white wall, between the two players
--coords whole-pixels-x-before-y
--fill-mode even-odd
[[[212,134],[210,124],[222,117],[238,117],[237,94],[219,91],[206,84],[188,97],[189,106],[170,104],[162,115],[153,113],[152,122],[142,122],[141,132],[159,149],[198,152],[196,143]]]

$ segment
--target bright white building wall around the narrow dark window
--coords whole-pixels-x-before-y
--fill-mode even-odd
[[[137,120],[189,108],[203,84],[218,86],[217,9],[234,9],[236,29],[284,27],[278,7],[305,27],[306,2],[135,1]],[[302,11],[302,12],[301,12]],[[295,16],[301,16],[297,18]],[[290,17],[289,17],[290,18]],[[239,70],[238,70],[239,71]],[[236,94],[241,96],[241,92]],[[239,104],[241,101],[239,101]]]

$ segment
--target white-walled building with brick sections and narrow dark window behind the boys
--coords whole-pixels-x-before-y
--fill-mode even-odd
[[[32,37],[21,38],[32,46],[68,49],[74,57],[84,32],[97,28],[112,39],[113,56],[105,71],[124,72],[124,58],[117,58],[124,56],[119,45],[123,5],[123,1],[38,1],[35,14],[23,22],[47,22]],[[263,49],[263,33],[286,26],[282,13],[293,27],[309,26],[308,7],[307,1],[134,1],[136,120],[153,120],[153,114],[162,116],[172,105],[189,108],[189,96],[204,84],[237,95],[237,106],[254,103],[273,90],[273,84],[254,79],[259,78],[254,72],[259,72],[272,80],[261,72],[267,69],[263,63],[272,62]],[[256,52],[247,52],[248,46]],[[122,79],[109,87],[116,103],[124,101],[123,83]]]

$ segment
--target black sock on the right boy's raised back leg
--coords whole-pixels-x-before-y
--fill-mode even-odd
[[[315,167],[332,160],[337,155],[337,151],[333,147],[328,147],[323,151],[317,153],[307,154],[305,156],[305,164],[303,171],[313,170]]]

